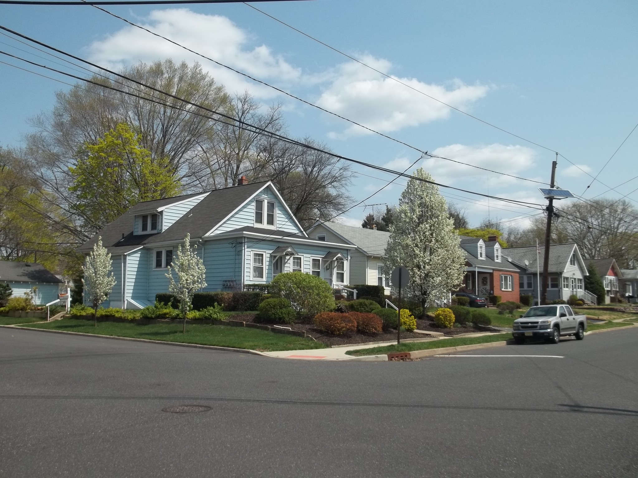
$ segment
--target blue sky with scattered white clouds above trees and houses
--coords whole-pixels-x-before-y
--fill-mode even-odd
[[[318,0],[255,6],[431,96],[557,150],[592,175],[638,123],[635,2],[389,4]],[[552,152],[357,66],[244,4],[108,9],[410,145],[464,163],[549,180]],[[105,66],[165,57],[193,59],[89,6],[1,6],[0,12],[0,24]],[[0,41],[10,43],[6,37]],[[0,49],[16,52],[2,44]],[[293,136],[313,136],[339,154],[397,170],[418,157],[407,147],[362,134],[342,120],[200,61],[229,91],[248,88],[265,103],[281,101]],[[0,78],[0,144],[19,146],[29,131],[27,119],[50,108],[54,92],[66,87],[3,64]],[[638,175],[637,156],[635,131],[600,173],[600,181],[615,187]],[[581,194],[591,177],[561,157],[558,164],[558,184]],[[538,185],[530,182],[443,160],[422,165],[443,184],[542,202]],[[383,185],[375,178],[389,178],[359,166],[355,170],[360,175],[350,192],[357,199]],[[368,203],[396,203],[404,182],[398,183]],[[605,192],[608,188],[595,182],[585,197],[605,192],[619,198],[637,187],[638,179],[618,187],[619,193]],[[488,214],[486,199],[442,192],[466,208],[474,224]],[[638,199],[638,192],[628,198]],[[526,224],[524,215],[535,213],[493,200],[489,204],[492,218],[513,218],[516,226]],[[354,224],[363,216],[359,207],[343,221]]]

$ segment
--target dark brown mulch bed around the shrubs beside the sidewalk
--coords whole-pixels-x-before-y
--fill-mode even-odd
[[[228,317],[235,321],[255,322],[255,314],[234,314]],[[292,330],[299,330],[306,332],[306,335],[310,335],[318,342],[323,342],[329,347],[333,345],[350,345],[350,344],[367,344],[369,342],[390,342],[396,340],[396,330],[389,332],[382,332],[375,335],[364,334],[360,332],[345,333],[343,335],[330,335],[329,333],[319,330],[314,324],[281,324],[285,327],[290,327]],[[474,328],[455,327],[452,329],[441,329],[436,326],[433,321],[417,319],[417,329],[424,331],[443,332],[445,335],[453,337],[460,333],[479,332],[484,330],[477,330]],[[427,338],[428,336],[423,333],[402,331],[401,338]]]

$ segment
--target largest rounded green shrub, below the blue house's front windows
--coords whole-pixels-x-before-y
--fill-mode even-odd
[[[275,276],[269,291],[290,301],[302,319],[334,310],[332,287],[321,277],[303,272],[283,272]]]

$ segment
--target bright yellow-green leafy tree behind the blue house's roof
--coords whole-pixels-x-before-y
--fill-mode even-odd
[[[115,126],[96,144],[85,145],[84,156],[69,169],[73,208],[96,228],[103,228],[140,201],[181,192],[168,158],[151,157],[126,123]]]

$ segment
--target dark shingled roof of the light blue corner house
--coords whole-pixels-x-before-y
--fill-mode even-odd
[[[98,242],[98,236],[102,238],[102,244],[111,254],[127,254],[143,245],[152,245],[165,242],[179,242],[184,240],[186,233],[191,238],[202,238],[221,221],[232,214],[239,205],[248,201],[256,192],[261,191],[267,182],[244,184],[224,189],[210,191],[207,196],[195,205],[189,212],[177,219],[171,226],[161,233],[133,235],[133,222],[135,215],[142,211],[157,210],[184,199],[201,196],[202,192],[186,194],[176,198],[156,199],[138,203],[125,212],[115,221],[107,224],[100,233],[78,247],[78,252],[89,252]],[[124,238],[122,239],[122,235]]]

